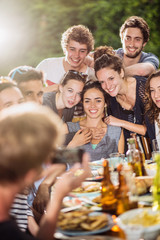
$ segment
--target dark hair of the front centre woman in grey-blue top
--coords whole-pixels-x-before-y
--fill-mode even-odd
[[[102,92],[103,96],[104,96],[104,101],[105,103],[108,105],[109,103],[109,95],[104,91],[104,89],[101,87],[101,84],[99,81],[93,81],[93,80],[89,80],[85,85],[84,85],[84,88],[83,88],[83,91],[82,91],[82,102],[84,100],[84,94],[89,90],[89,89],[92,89],[92,88],[96,88],[98,89],[100,92]]]

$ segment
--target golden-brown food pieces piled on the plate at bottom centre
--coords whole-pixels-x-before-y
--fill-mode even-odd
[[[58,227],[63,230],[86,230],[101,229],[108,223],[106,214],[92,215],[91,211],[74,211],[60,213]]]

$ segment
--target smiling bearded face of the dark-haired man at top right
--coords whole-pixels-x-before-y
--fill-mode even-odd
[[[144,43],[143,34],[139,28],[126,28],[121,39],[124,54],[129,58],[136,58],[141,54]]]

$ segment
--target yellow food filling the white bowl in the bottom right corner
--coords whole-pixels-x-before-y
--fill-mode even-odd
[[[126,219],[123,220],[124,224],[130,225],[130,224],[140,224],[144,227],[150,227],[156,224],[160,224],[160,214],[149,214],[147,210],[144,210],[141,214],[137,214],[132,219]]]

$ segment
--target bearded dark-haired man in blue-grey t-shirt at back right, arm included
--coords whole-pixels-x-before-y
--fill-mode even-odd
[[[147,77],[158,69],[158,58],[142,51],[149,40],[149,27],[143,18],[131,16],[126,19],[120,28],[120,38],[122,48],[116,53],[123,59],[126,75]]]

